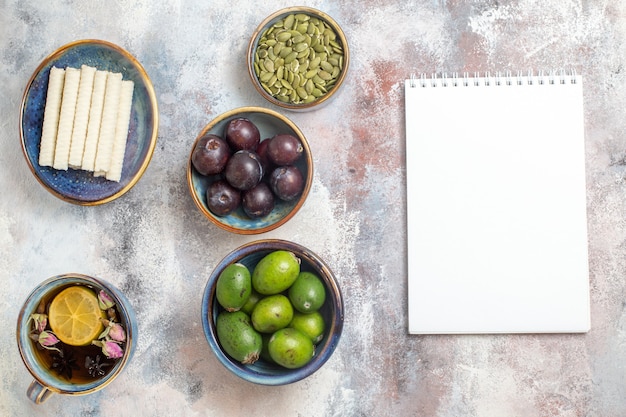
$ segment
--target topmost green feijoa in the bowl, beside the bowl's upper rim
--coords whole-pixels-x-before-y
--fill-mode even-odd
[[[252,286],[260,294],[285,291],[300,273],[300,258],[293,252],[277,250],[265,255],[252,271]]]

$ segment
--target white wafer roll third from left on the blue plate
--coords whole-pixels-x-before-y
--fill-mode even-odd
[[[80,67],[80,84],[78,85],[78,98],[76,99],[76,113],[74,114],[74,128],[72,130],[72,142],[70,144],[70,168],[81,168],[83,163],[83,151],[87,138],[87,123],[89,122],[89,107],[91,106],[91,93],[93,92],[93,80],[96,69],[87,65]]]

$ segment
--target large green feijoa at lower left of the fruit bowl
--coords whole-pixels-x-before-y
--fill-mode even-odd
[[[244,364],[252,364],[259,359],[263,341],[246,313],[223,311],[217,316],[215,327],[220,345],[233,359]]]

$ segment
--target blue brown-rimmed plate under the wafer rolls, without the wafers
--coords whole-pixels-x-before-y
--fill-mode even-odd
[[[50,68],[80,68],[120,72],[135,83],[133,105],[122,177],[119,182],[94,177],[88,171],[56,170],[39,166],[39,142],[43,125]],[[130,190],[150,163],[156,145],[159,112],[150,78],[141,64],[117,45],[101,40],[80,40],[62,46],[43,60],[31,77],[22,100],[20,136],[26,162],[37,180],[54,196],[69,203],[97,205]]]

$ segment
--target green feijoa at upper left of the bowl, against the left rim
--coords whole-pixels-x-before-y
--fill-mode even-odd
[[[226,311],[237,311],[248,301],[252,278],[248,268],[240,263],[228,265],[215,284],[215,296]]]

